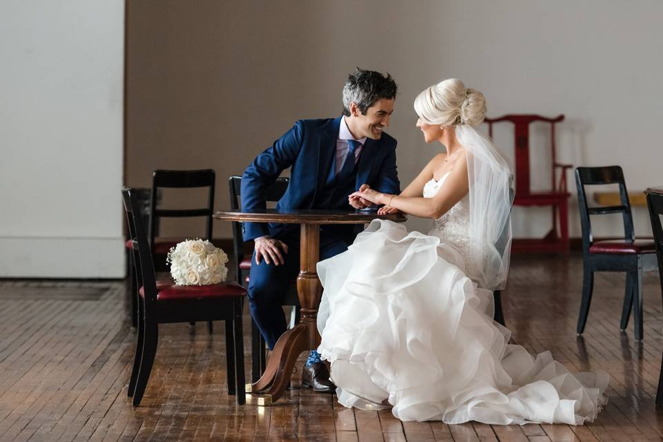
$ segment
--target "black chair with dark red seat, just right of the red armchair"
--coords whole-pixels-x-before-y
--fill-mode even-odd
[[[634,337],[642,340],[642,272],[655,269],[654,242],[651,239],[636,239],[633,230],[631,204],[628,202],[624,173],[619,166],[578,167],[575,169],[575,182],[578,190],[580,224],[582,225],[582,304],[578,317],[577,333],[582,334],[587,322],[592,301],[595,271],[626,272],[626,291],[622,307],[622,321],[619,328],[628,326],[628,318],[633,309]],[[590,207],[587,204],[585,186],[619,184],[619,206]],[[621,213],[624,220],[624,239],[595,241],[590,215]]]

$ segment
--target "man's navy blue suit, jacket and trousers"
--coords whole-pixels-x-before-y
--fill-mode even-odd
[[[366,139],[352,173],[335,173],[341,118],[300,120],[260,153],[242,176],[242,210],[265,209],[265,189],[287,168],[291,168],[290,183],[276,204],[277,209],[354,210],[347,197],[362,184],[384,193],[399,193],[396,140],[386,133],[380,140]],[[244,222],[242,231],[244,240],[269,235],[289,247],[289,253],[284,256],[285,265],[267,265],[264,259],[256,265],[255,252],[251,263],[251,316],[269,348],[273,348],[287,329],[281,301],[299,271],[299,226]],[[323,226],[320,229],[320,260],[345,251],[354,236],[352,225]]]

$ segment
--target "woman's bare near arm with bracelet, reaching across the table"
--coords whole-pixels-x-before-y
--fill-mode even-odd
[[[467,159],[463,155],[456,161],[454,169],[433,198],[389,195],[370,189],[362,192],[361,196],[376,204],[387,204],[410,215],[436,219],[447,213],[454,204],[467,195],[468,191],[468,166]]]

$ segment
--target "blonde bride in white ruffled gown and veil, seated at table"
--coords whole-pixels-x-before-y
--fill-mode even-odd
[[[391,407],[403,421],[593,421],[608,375],[571,374],[550,352],[530,356],[492,320],[492,290],[508,275],[512,175],[474,129],[483,95],[447,79],[414,109],[425,141],[446,152],[400,195],[364,186],[349,198],[432,218],[431,231],[373,220],[345,253],[318,263],[318,352],[331,362],[338,402]]]

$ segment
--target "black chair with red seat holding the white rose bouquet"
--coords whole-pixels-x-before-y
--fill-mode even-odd
[[[138,339],[128,387],[133,405],[140,404],[150,378],[157,351],[159,324],[198,320],[225,321],[228,394],[236,394],[237,403],[244,404],[242,301],[247,295],[246,289],[236,282],[202,286],[157,283],[152,252],[133,189],[122,188],[122,199],[133,242],[135,271],[140,273],[143,282],[138,291]]]

